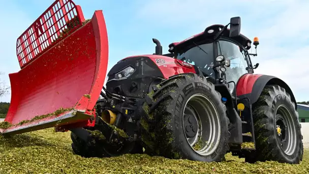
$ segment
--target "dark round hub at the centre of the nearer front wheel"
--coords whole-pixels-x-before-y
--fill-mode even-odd
[[[183,125],[188,138],[195,137],[198,132],[198,122],[193,114],[184,114]]]

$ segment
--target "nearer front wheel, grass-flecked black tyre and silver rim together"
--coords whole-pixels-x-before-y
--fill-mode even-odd
[[[143,105],[140,126],[145,153],[170,159],[224,160],[229,119],[214,85],[188,73],[172,76],[157,87]]]

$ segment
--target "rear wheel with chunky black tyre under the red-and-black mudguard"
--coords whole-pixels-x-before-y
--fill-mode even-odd
[[[253,106],[253,119],[256,152],[246,154],[246,162],[278,161],[298,164],[302,160],[301,125],[295,103],[284,88],[266,85]]]

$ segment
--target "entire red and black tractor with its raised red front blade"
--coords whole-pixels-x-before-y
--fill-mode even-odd
[[[251,62],[256,54],[240,34],[240,17],[170,44],[168,54],[153,42],[154,54],[126,57],[106,74],[102,11],[85,20],[71,0],[55,1],[17,39],[21,70],[9,75],[2,134],[71,131],[83,157],[211,162],[232,152],[248,162],[302,160],[295,97],[283,80],[254,74],[259,64]]]

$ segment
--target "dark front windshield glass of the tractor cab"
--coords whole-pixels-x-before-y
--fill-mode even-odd
[[[215,78],[211,64],[213,65],[213,43],[202,44],[190,48],[188,51],[178,53],[176,59],[197,66],[208,76]]]

